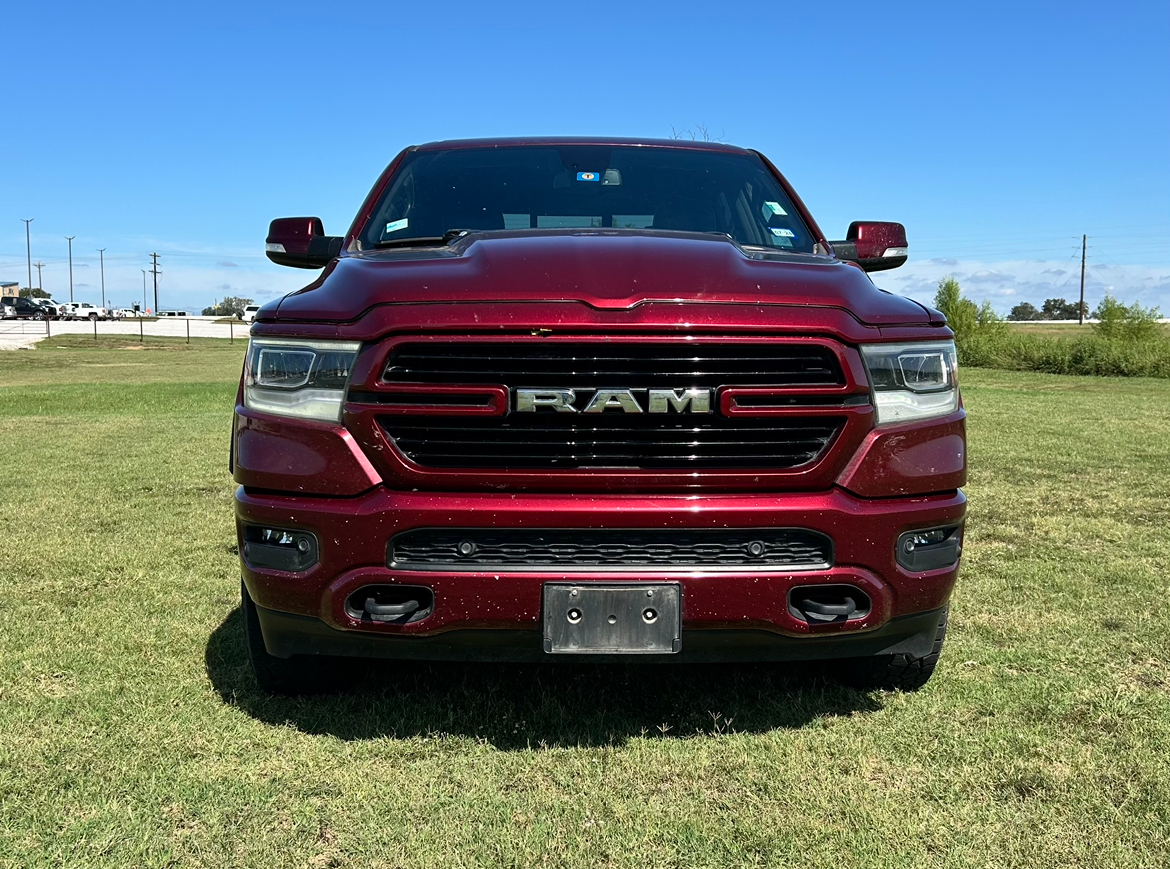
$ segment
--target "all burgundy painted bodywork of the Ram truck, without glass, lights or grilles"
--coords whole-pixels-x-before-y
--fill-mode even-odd
[[[727,145],[673,140],[479,140],[422,147],[508,147],[526,142],[743,153]],[[346,235],[347,247],[408,151],[374,184]],[[794,191],[764,163],[824,241]],[[262,607],[374,634],[428,636],[473,627],[537,630],[542,584],[587,578],[387,567],[388,539],[418,527],[673,527],[686,532],[785,526],[820,531],[833,539],[834,567],[827,571],[605,573],[606,580],[679,581],[688,630],[744,627],[790,636],[848,634],[937,608],[949,599],[957,568],[908,573],[895,561],[894,543],[908,530],[962,522],[964,413],[875,428],[858,345],[945,340],[951,332],[937,311],[879,290],[851,263],[828,256],[757,258],[725,239],[687,233],[473,234],[447,249],[346,250],[303,290],[264,305],[253,335],[363,343],[351,380],[355,391],[340,423],[300,422],[236,408],[233,465],[241,484],[239,522],[305,529],[317,534],[321,546],[321,561],[303,573],[245,566],[246,585]],[[380,374],[387,356],[402,340],[631,337],[674,343],[817,342],[832,350],[846,373],[844,386],[826,388],[725,384],[713,396],[713,407],[727,418],[810,414],[808,408],[760,408],[765,394],[865,400],[812,412],[842,416],[846,423],[814,462],[772,471],[421,468],[394,447],[374,419],[419,413],[419,392],[446,392],[448,401],[452,395],[469,396],[467,408],[443,405],[445,414],[500,414],[509,400],[504,387],[516,386],[450,384],[420,389],[384,382]],[[362,393],[378,394],[383,401],[363,404]],[[394,405],[395,394],[404,395],[404,402]],[[737,399],[753,406],[739,405]],[[435,612],[408,626],[363,625],[345,613],[343,604],[351,592],[369,584],[395,582],[433,588]],[[786,608],[787,591],[818,582],[863,588],[873,600],[872,612],[844,625],[815,628],[793,619]]]

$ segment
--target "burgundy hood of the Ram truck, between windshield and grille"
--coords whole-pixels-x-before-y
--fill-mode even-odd
[[[828,256],[762,253],[696,233],[611,229],[470,233],[448,247],[343,255],[259,319],[352,323],[379,305],[654,302],[833,308],[872,326],[937,325],[918,303]]]

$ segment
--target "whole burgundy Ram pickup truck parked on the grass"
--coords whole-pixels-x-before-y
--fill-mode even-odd
[[[260,685],[324,656],[835,660],[915,689],[958,572],[944,317],[878,289],[899,223],[830,241],[710,143],[408,147],[264,305],[232,471]]]

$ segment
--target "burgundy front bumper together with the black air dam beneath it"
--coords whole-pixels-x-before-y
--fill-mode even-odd
[[[797,660],[910,650],[932,635],[958,572],[951,566],[909,573],[895,560],[906,531],[963,520],[962,491],[863,499],[834,489],[775,496],[596,496],[435,494],[376,489],[355,498],[236,494],[240,527],[255,524],[310,531],[319,561],[300,573],[243,566],[264,641],[273,655],[359,655],[454,660],[560,660],[542,651],[545,582],[587,582],[581,572],[448,572],[387,566],[397,533],[441,529],[697,529],[799,527],[834,544],[827,570],[686,571],[645,567],[596,574],[607,582],[679,582],[680,660]],[[242,544],[242,539],[241,539]],[[851,585],[869,611],[844,622],[810,625],[789,609],[797,586]],[[366,586],[426,586],[434,612],[411,623],[360,621],[346,599]],[[932,621],[931,621],[932,620]],[[574,656],[580,661],[581,656]]]

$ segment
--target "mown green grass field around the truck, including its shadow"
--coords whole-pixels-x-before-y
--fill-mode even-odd
[[[0,354],[0,867],[1154,867],[1170,381],[962,373],[934,681],[371,667],[254,689],[226,342]]]

